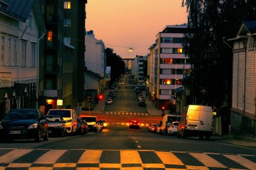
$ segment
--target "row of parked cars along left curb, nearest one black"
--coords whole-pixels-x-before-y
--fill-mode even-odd
[[[77,117],[72,109],[51,109],[44,115],[37,109],[10,110],[0,122],[0,140],[49,140],[49,136],[86,134],[102,131],[106,121],[96,116]]]

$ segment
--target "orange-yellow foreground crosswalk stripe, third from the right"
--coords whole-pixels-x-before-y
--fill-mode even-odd
[[[170,165],[184,165],[173,153],[156,151],[156,155],[161,159],[162,163]]]

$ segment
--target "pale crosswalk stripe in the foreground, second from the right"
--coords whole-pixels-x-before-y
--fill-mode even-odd
[[[206,167],[218,167],[218,168],[226,168],[226,166],[222,165],[212,157],[206,155],[205,153],[190,153],[193,157],[195,157],[198,161],[203,163]]]

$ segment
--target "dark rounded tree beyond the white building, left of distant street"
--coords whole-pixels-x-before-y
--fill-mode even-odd
[[[111,67],[110,85],[125,73],[125,62],[112,48],[106,48],[106,66]]]

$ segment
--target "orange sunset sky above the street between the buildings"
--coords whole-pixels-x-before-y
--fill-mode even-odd
[[[182,0],[88,0],[86,31],[122,58],[146,56],[167,25],[187,23]],[[133,48],[133,52],[129,52]]]

